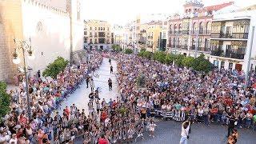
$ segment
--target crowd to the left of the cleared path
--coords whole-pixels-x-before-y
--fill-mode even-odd
[[[2,118],[0,143],[50,143],[56,139],[57,131],[60,132],[58,136],[62,134],[63,128],[68,128],[72,135],[74,127],[66,127],[67,119],[58,114],[52,118],[52,112],[57,110],[61,102],[82,84],[91,71],[98,69],[101,63],[102,55],[93,52],[82,62],[66,66],[57,78],[42,78],[40,73],[30,74],[30,102],[26,101],[26,81],[23,78],[18,88],[10,90],[11,111]],[[30,118],[27,109],[29,105]]]

